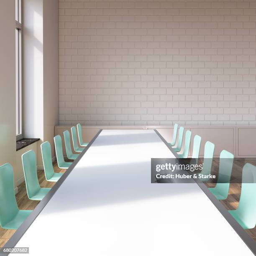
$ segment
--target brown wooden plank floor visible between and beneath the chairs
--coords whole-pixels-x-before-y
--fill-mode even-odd
[[[235,159],[233,164],[233,174],[241,174],[243,165],[246,163],[251,163],[256,165],[256,159]],[[213,160],[212,162],[212,172],[218,171],[219,162],[218,160]],[[55,172],[65,172],[63,169],[59,169],[57,163],[54,163]],[[53,187],[55,182],[48,182],[45,179],[44,171],[38,171],[38,180],[41,187]],[[214,187],[215,184],[206,184],[207,187]],[[231,183],[229,189],[229,195],[226,200],[221,200],[222,204],[227,210],[235,210],[238,207],[238,202],[241,194],[241,184]],[[18,207],[20,210],[33,210],[40,201],[29,200],[26,192],[25,182],[18,186],[18,193],[16,195]],[[256,228],[246,230],[246,232],[256,241]],[[0,228],[0,247],[3,247],[9,238],[15,233],[15,230],[6,230]]]

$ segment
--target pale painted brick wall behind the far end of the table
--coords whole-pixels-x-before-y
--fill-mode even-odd
[[[256,124],[256,1],[59,0],[60,124]]]

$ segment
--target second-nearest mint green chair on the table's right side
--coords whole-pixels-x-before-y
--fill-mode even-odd
[[[209,188],[210,192],[218,200],[224,200],[228,197],[228,190],[230,184],[230,177],[233,167],[234,155],[230,152],[223,150],[220,153],[220,167],[217,184],[213,188]]]

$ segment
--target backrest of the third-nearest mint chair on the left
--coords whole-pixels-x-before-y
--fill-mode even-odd
[[[51,144],[49,141],[46,141],[41,144],[41,154],[44,164],[44,173],[46,179],[51,179],[54,175],[54,168],[51,160]]]

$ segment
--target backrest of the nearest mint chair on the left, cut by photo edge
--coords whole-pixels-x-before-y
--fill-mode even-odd
[[[18,213],[14,192],[13,166],[0,166],[0,225],[4,226]]]

